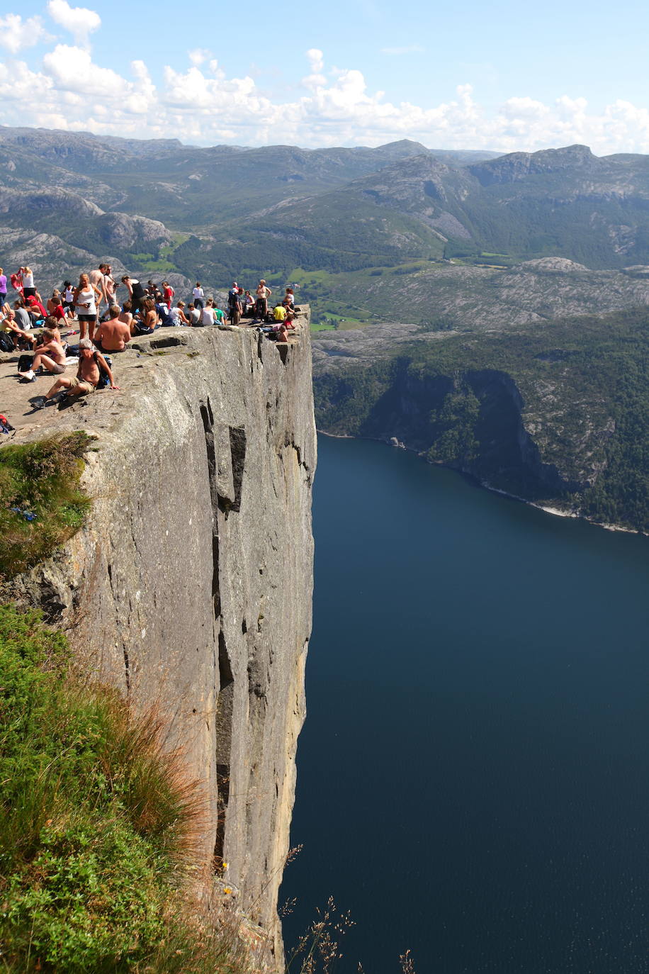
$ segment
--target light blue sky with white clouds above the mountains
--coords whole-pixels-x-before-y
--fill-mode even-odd
[[[649,5],[4,0],[0,123],[195,145],[649,153]],[[6,12],[4,12],[6,11]]]

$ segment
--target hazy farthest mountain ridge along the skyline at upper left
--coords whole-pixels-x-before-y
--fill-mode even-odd
[[[409,139],[376,149],[202,148],[176,139],[0,127],[0,172],[11,183],[26,178],[62,186],[74,174],[99,206],[161,219],[182,230],[208,229],[285,199],[323,192],[421,153],[428,150]],[[464,152],[442,154],[456,165],[467,158]]]

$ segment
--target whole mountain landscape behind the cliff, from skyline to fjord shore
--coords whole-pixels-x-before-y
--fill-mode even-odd
[[[320,429],[649,530],[648,156],[0,128],[0,173],[0,263],[44,292],[100,260],[183,295],[292,282],[337,329]]]

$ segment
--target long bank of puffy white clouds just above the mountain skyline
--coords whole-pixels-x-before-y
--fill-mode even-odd
[[[65,0],[50,0],[53,6],[61,17],[70,12],[67,26],[77,37],[88,38],[99,23],[92,11],[71,8]],[[22,29],[29,21],[10,23]],[[38,32],[38,25],[34,30]],[[24,47],[17,45],[20,51]],[[397,102],[370,90],[355,67],[328,69],[323,52],[311,48],[301,87],[280,100],[258,88],[249,74],[228,77],[209,51],[188,54],[187,70],[167,65],[158,84],[144,60],[133,61],[123,75],[96,63],[83,40],[55,44],[38,66],[24,59],[0,60],[3,121],[98,134],[178,137],[194,144],[379,145],[408,137],[431,148],[510,152],[583,142],[599,155],[649,153],[649,110],[622,99],[594,111],[582,97],[564,94],[544,103],[523,91],[496,111],[487,111],[470,85],[459,85],[447,101]]]

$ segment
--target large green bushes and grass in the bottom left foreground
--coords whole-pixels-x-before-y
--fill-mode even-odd
[[[201,800],[155,714],[89,689],[65,639],[0,607],[3,970],[241,974],[183,889]]]

